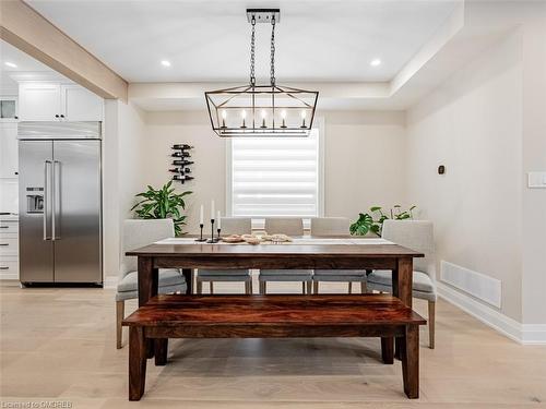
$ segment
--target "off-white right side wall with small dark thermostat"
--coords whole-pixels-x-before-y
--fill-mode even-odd
[[[500,279],[501,312],[521,321],[520,32],[407,112],[407,199],[435,222],[438,260]]]

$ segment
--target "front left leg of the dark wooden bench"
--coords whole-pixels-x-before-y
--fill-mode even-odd
[[[146,382],[146,344],[142,327],[129,327],[129,400],[140,400]]]

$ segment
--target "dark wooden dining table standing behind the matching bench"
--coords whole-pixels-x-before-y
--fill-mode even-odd
[[[157,294],[158,269],[180,268],[187,293],[194,268],[309,268],[387,269],[392,272],[392,294],[412,306],[413,258],[424,254],[380,239],[301,237],[282,244],[200,243],[192,239],[164,241],[128,251],[138,257],[139,306]],[[166,346],[165,346],[166,347]],[[161,349],[161,348],[159,348]],[[153,356],[153,350],[149,352]]]

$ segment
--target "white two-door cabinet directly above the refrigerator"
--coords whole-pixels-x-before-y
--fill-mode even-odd
[[[22,82],[21,121],[102,121],[103,98],[75,84]]]

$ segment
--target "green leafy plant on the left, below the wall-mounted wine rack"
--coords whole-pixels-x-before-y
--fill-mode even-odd
[[[186,209],[183,196],[192,192],[175,193],[175,188],[171,185],[171,180],[158,190],[149,184],[146,192],[136,194],[136,197],[143,200],[131,207],[131,210],[136,209],[135,214],[141,219],[171,218],[175,224],[175,234],[181,236],[185,234],[182,226],[186,225],[186,216],[181,214],[181,210]]]

